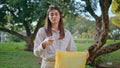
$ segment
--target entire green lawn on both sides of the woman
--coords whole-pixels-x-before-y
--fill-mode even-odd
[[[93,42],[91,39],[75,39],[79,51],[86,50]],[[113,43],[108,40],[107,44]],[[35,57],[32,52],[24,51],[24,42],[4,42],[0,43],[0,68],[40,68],[40,58]],[[120,63],[120,50],[102,56],[102,59]],[[87,66],[86,68],[92,68]]]

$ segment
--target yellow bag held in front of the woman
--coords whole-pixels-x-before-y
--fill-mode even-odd
[[[85,68],[87,52],[57,51],[55,68]]]

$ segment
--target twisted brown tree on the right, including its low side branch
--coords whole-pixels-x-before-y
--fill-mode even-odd
[[[88,62],[90,65],[96,65],[95,59],[103,54],[111,53],[120,49],[120,42],[109,44],[104,46],[108,39],[109,32],[109,14],[108,10],[112,3],[112,0],[81,0],[85,5],[80,3],[84,12],[88,12],[96,21],[94,30],[94,43],[88,48],[90,56]],[[97,3],[101,8],[101,15],[95,14]],[[80,8],[80,7],[79,7]]]

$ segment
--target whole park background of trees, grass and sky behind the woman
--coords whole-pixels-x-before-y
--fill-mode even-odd
[[[94,54],[96,54],[97,57],[93,57],[95,63],[93,63],[93,65],[88,63],[86,68],[94,68],[100,64],[106,65],[105,63],[107,62],[119,66],[119,2],[119,0],[1,0],[0,67],[40,67],[41,59],[35,57],[32,52],[33,41],[38,29],[44,26],[46,10],[50,4],[57,5],[61,8],[65,28],[72,33],[78,51],[90,49],[91,46],[94,46],[92,44],[96,42],[99,42],[98,46],[100,46],[98,48],[95,47],[97,51],[108,46],[108,49],[104,49],[106,52],[101,51],[102,53],[100,53],[101,55],[98,54],[99,56],[97,56],[97,51],[91,52],[91,57],[94,56]],[[100,4],[104,7],[101,7]],[[108,5],[108,7],[105,8],[106,5]],[[107,16],[109,16],[109,18],[107,18]],[[98,20],[102,21],[102,23],[107,23],[107,25],[101,24],[102,26],[97,26],[96,23]],[[104,26],[108,26],[109,31],[107,31]],[[96,27],[99,28],[101,32],[96,32]],[[101,36],[104,30],[107,32],[105,37]],[[96,41],[98,39],[99,41]],[[102,45],[100,43],[102,43]],[[111,44],[115,46],[111,47]]]

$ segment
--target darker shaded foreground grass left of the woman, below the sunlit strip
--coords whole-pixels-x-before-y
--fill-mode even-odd
[[[1,68],[40,68],[32,52],[26,51],[0,51]]]

